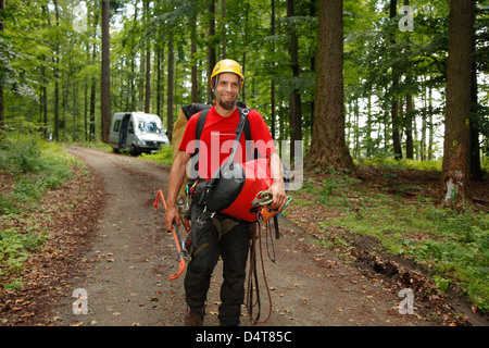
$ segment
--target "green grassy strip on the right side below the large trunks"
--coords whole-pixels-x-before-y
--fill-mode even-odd
[[[318,222],[326,237],[347,228],[376,237],[391,253],[413,259],[432,271],[442,290],[456,289],[482,312],[489,310],[489,214],[471,208],[463,213],[437,208],[429,197],[405,200],[342,173],[331,171],[322,182],[309,179],[294,192],[337,211]],[[325,240],[331,240],[325,238]],[[340,236],[333,238],[344,244]]]

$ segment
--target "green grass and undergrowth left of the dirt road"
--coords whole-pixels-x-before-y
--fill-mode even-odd
[[[0,190],[0,276],[8,276],[20,273],[29,254],[49,238],[29,214],[40,209],[47,191],[72,177],[78,162],[35,134],[8,133],[0,138],[0,174],[7,182]],[[18,283],[4,288],[18,288]]]

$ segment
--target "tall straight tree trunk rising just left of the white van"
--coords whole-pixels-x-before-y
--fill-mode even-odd
[[[109,142],[111,127],[111,77],[110,77],[110,1],[102,0],[102,72],[100,111],[102,115],[102,141]]]

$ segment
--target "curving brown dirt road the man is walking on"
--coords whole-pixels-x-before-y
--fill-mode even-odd
[[[152,207],[156,191],[166,191],[170,169],[127,156],[82,147],[70,152],[98,174],[108,194],[99,215],[90,262],[84,276],[71,281],[78,300],[75,314],[67,294],[53,303],[55,325],[174,325],[181,326],[186,312],[184,276],[172,282],[178,263],[172,236],[163,227],[163,204]],[[275,240],[276,263],[264,256],[271,289],[274,326],[429,325],[416,314],[400,314],[403,300],[376,278],[362,275],[324,248],[314,247],[306,233],[281,220],[281,237]],[[221,261],[209,293],[204,325],[216,326]],[[261,285],[262,289],[265,288]],[[415,300],[415,299],[414,299]],[[415,306],[415,303],[414,303]],[[268,312],[262,295],[262,319]],[[243,308],[242,325],[251,325]]]

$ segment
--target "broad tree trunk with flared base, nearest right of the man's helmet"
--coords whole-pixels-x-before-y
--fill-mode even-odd
[[[343,3],[319,1],[314,126],[306,167],[354,171],[344,142]]]

